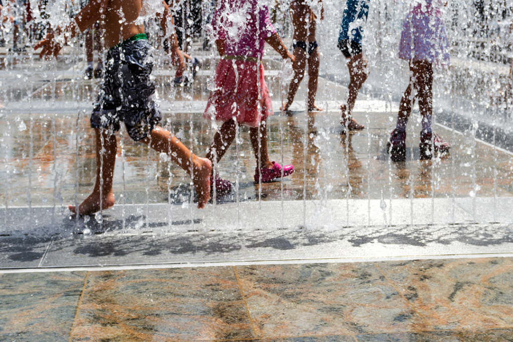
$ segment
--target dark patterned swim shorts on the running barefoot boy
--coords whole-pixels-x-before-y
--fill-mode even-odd
[[[92,128],[120,130],[125,123],[135,141],[144,139],[160,122],[160,108],[153,101],[155,83],[151,46],[145,39],[127,42],[107,53],[100,93],[91,115]]]

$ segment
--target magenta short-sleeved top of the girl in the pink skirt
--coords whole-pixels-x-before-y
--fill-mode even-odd
[[[259,0],[218,0],[212,18],[214,39],[225,39],[225,54],[262,58],[265,39],[276,30]]]

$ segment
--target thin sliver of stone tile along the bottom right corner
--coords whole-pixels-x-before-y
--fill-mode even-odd
[[[510,342],[513,330],[440,331],[356,335],[358,342]]]

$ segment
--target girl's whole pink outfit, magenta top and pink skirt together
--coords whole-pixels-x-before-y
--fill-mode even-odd
[[[225,55],[215,69],[206,119],[258,127],[273,114],[261,63],[265,39],[276,31],[269,10],[258,0],[218,0],[212,18],[214,39],[225,41]]]

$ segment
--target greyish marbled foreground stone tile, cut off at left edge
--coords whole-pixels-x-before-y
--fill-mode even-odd
[[[86,272],[0,274],[0,340],[67,341]]]

